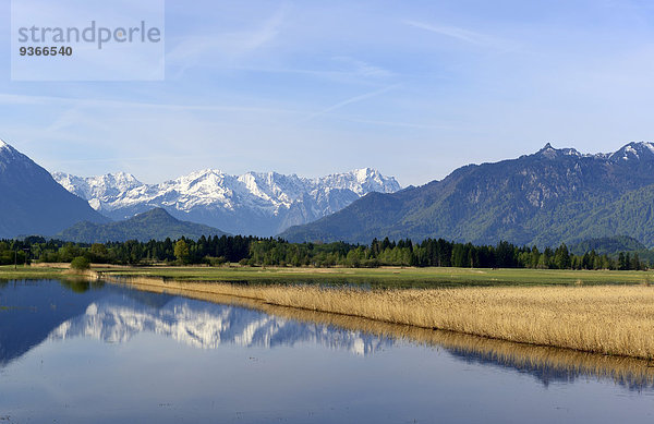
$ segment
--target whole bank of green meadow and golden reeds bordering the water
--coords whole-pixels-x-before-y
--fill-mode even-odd
[[[654,359],[654,288],[652,274],[643,271],[618,271],[621,279],[616,281],[611,271],[523,269],[94,266],[72,271],[38,266],[13,272],[3,268],[0,280],[102,279],[186,296],[237,296],[389,325]],[[372,276],[385,280],[377,283]],[[497,278],[501,276],[506,280]]]

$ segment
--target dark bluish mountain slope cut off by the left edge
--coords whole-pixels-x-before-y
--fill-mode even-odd
[[[109,221],[1,140],[0,206],[0,238],[55,234],[83,220]]]

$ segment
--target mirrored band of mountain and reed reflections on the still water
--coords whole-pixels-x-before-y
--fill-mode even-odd
[[[177,294],[80,281],[4,283],[0,286],[0,367],[48,339],[123,343],[140,334],[155,334],[202,349],[226,343],[264,349],[305,343],[362,356],[409,341],[445,350],[465,363],[531,375],[545,387],[589,377],[613,380],[629,390],[651,391],[654,387],[654,367],[639,360],[516,344],[215,294],[193,294],[197,299]]]

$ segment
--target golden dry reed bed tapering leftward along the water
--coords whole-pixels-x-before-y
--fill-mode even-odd
[[[121,279],[183,294],[239,296],[269,305],[368,318],[513,342],[654,359],[654,288],[645,286],[328,289]]]

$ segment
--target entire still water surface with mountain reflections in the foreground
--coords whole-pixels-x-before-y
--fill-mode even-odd
[[[0,423],[654,422],[647,364],[484,343],[0,281]]]

